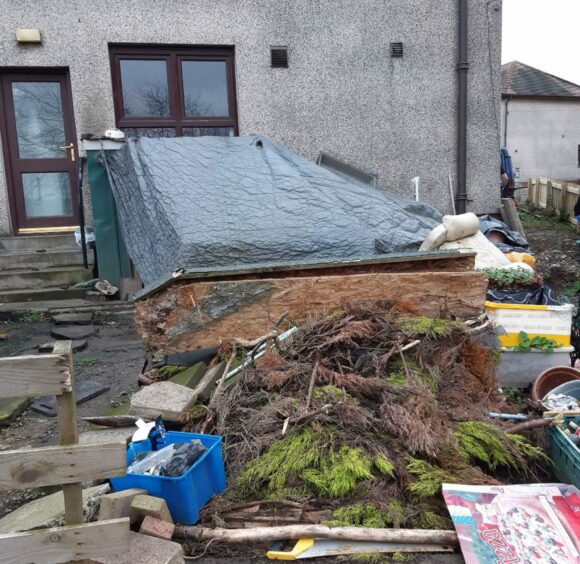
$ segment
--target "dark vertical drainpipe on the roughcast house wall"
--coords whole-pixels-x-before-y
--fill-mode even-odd
[[[458,94],[457,94],[457,192],[455,208],[465,213],[467,207],[467,0],[458,0]]]

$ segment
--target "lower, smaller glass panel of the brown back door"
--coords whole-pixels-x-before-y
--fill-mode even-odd
[[[72,216],[68,172],[24,173],[22,188],[28,217]]]

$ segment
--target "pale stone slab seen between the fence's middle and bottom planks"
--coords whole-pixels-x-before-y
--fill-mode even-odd
[[[85,523],[95,519],[101,498],[109,491],[108,484],[83,490]],[[26,503],[0,519],[0,533],[18,533],[62,525],[64,525],[64,497],[60,491]]]

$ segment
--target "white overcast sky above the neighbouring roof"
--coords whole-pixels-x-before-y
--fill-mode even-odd
[[[501,61],[580,84],[580,0],[503,0]]]

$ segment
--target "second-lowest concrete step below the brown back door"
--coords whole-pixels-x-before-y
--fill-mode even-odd
[[[82,266],[63,266],[43,270],[2,270],[0,271],[0,291],[60,289],[74,286],[83,280],[90,280],[91,276],[92,270],[90,268],[85,270]]]

